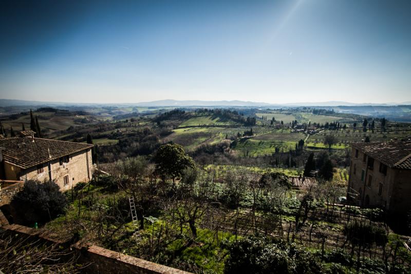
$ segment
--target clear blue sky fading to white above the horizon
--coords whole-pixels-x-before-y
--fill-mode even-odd
[[[11,1],[0,98],[411,101],[411,1]]]

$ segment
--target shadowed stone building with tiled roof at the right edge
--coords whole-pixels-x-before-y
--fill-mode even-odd
[[[347,198],[390,213],[411,210],[411,141],[353,143]]]

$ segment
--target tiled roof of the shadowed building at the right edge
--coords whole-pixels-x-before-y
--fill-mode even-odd
[[[390,168],[411,169],[411,141],[352,143],[352,147]]]

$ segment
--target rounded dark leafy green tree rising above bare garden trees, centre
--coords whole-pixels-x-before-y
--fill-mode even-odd
[[[184,149],[179,144],[163,144],[158,149],[154,157],[156,163],[156,173],[163,179],[169,177],[173,181],[181,177],[186,168],[195,168],[193,159],[185,154]]]

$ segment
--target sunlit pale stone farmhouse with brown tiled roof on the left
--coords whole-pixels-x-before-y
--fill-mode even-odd
[[[61,190],[92,176],[92,144],[34,138],[33,132],[0,139],[0,179],[54,180]]]

